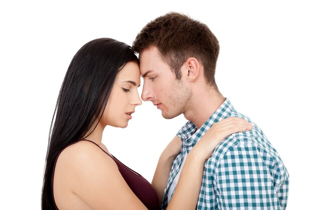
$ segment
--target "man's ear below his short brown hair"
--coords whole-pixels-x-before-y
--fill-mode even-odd
[[[194,57],[189,57],[184,64],[185,68],[182,72],[183,76],[185,76],[190,81],[195,81],[201,75],[201,69],[199,61]]]

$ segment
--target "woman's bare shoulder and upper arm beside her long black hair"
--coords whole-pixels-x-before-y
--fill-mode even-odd
[[[57,164],[56,169],[66,177],[61,180],[61,174],[58,175],[58,192],[67,187],[92,209],[146,209],[125,182],[114,160],[93,143],[82,141],[67,147]],[[62,199],[64,197],[59,196],[59,200]]]

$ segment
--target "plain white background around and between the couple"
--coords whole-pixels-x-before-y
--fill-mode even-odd
[[[131,45],[147,22],[170,11],[200,20],[216,35],[219,90],[280,154],[290,174],[287,209],[314,209],[314,7],[311,1],[217,2],[1,2],[0,209],[40,209],[50,122],[75,52],[100,37]],[[185,122],[163,119],[144,102],[126,129],[106,128],[103,143],[150,181]]]

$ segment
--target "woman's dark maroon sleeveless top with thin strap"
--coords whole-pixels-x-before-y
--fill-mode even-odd
[[[80,142],[80,141],[88,141],[88,142],[91,142],[91,143],[95,144],[96,146],[98,146],[96,143],[94,143],[94,142],[92,142],[90,140],[87,140],[87,139],[82,139],[82,140],[79,140],[77,142]],[[77,143],[77,142],[75,142],[75,143]],[[75,144],[75,143],[73,143],[73,144]],[[71,145],[73,145],[73,144],[71,144]],[[141,202],[149,210],[158,210],[160,208],[160,206],[159,206],[159,197],[157,197],[157,194],[156,194],[155,190],[153,189],[152,185],[145,178],[143,178],[140,174],[138,174],[137,172],[135,172],[135,171],[131,170],[130,168],[128,168],[127,166],[125,166],[123,163],[121,163],[114,156],[109,155],[100,146],[98,146],[98,147],[105,154],[107,154],[109,157],[111,157],[115,161],[115,163],[118,166],[118,170],[119,170],[120,174],[122,175],[122,177],[124,178],[124,180],[126,181],[128,186],[130,187],[132,192],[139,198],[139,200],[141,200]],[[56,162],[57,162],[57,159],[58,159],[60,153],[58,154],[58,156],[56,158],[55,166],[54,166],[53,174],[52,174],[52,179],[51,179],[52,196],[53,196],[54,171],[55,171]],[[58,209],[57,205],[55,203],[54,196],[53,196],[53,201],[54,201],[56,209]]]

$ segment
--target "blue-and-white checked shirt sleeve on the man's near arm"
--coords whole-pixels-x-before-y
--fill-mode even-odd
[[[278,198],[285,181],[275,186],[271,162],[251,142],[238,143],[227,151],[215,173],[218,209],[285,209],[286,201]]]

